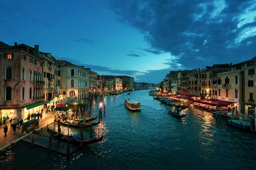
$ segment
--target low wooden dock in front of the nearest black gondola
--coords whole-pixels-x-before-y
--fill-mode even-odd
[[[31,135],[29,135],[29,137],[21,139],[21,140],[31,143]],[[48,149],[49,148],[49,138],[35,135],[34,144]],[[78,147],[70,145],[70,154],[72,154],[73,152],[75,152],[78,149],[79,149]],[[57,153],[67,155],[67,143],[61,142],[60,146],[58,147],[58,141],[55,139],[52,139],[52,150]]]

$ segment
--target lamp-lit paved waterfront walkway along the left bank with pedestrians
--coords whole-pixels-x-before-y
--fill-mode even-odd
[[[40,130],[41,127],[45,127],[47,124],[50,124],[53,122],[55,117],[55,111],[50,111],[47,114],[43,115],[43,120],[39,121],[39,129],[33,129],[33,130]],[[26,121],[25,121],[26,122]],[[3,133],[3,127],[5,125],[3,125],[0,128],[0,151],[6,149],[7,147],[9,147],[12,143],[16,143],[18,142],[20,139],[29,136],[29,134],[32,133],[33,130],[30,131],[30,133],[26,133],[26,132],[22,132],[21,128],[20,130],[17,128],[16,129],[16,133],[15,135],[13,135],[13,130],[12,127],[9,125],[8,126],[8,132],[7,132],[7,137],[4,137],[4,133]]]

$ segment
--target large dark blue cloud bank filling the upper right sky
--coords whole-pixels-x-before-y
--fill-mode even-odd
[[[154,50],[136,49],[175,56],[165,62],[171,69],[198,68],[202,62],[213,65],[250,59],[256,38],[250,30],[256,26],[256,18],[241,27],[239,24],[245,22],[240,16],[255,2],[226,0],[220,13],[216,11],[220,1],[202,2],[113,0],[111,8],[117,20],[144,34],[144,40]]]

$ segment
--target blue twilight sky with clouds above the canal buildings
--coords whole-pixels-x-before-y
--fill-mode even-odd
[[[12,0],[0,16],[2,42],[136,82],[256,55],[256,0]]]

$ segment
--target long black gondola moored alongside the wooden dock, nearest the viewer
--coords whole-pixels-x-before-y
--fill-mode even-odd
[[[55,138],[56,140],[58,140],[60,142],[67,143],[67,140],[70,139],[70,144],[81,145],[81,138],[80,138],[80,136],[68,136],[68,135],[64,135],[64,134],[58,134],[58,132],[50,130],[48,125],[47,125],[47,132],[53,138]],[[96,143],[96,142],[101,141],[102,139],[103,139],[103,135],[100,138],[84,138],[82,145]]]

